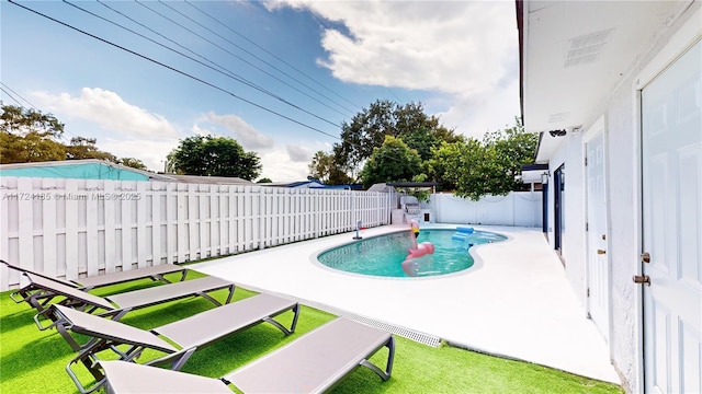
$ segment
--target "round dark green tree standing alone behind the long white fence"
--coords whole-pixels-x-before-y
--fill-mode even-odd
[[[256,152],[246,152],[235,139],[193,136],[180,140],[168,154],[170,166],[180,174],[237,176],[252,181],[261,173]]]

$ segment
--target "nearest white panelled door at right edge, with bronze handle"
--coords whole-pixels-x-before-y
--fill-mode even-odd
[[[700,393],[702,44],[642,91],[644,374],[648,393]]]

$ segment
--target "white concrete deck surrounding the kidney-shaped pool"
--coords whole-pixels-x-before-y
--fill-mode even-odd
[[[442,228],[450,225],[431,225]],[[455,228],[453,225],[452,228]],[[367,229],[370,237],[408,227]],[[540,229],[476,225],[508,241],[472,248],[474,267],[443,277],[380,278],[320,266],[320,252],[355,233],[275,246],[190,266],[244,288],[337,314],[354,314],[449,343],[621,384],[608,346]]]

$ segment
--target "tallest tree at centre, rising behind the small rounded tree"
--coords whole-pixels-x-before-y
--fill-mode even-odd
[[[348,174],[358,173],[359,166],[381,147],[385,136],[403,139],[417,150],[421,160],[431,157],[431,149],[442,141],[457,137],[439,124],[439,118],[424,114],[421,103],[400,106],[390,101],[376,101],[356,114],[350,124],[341,126],[341,142],[333,147],[336,166]]]

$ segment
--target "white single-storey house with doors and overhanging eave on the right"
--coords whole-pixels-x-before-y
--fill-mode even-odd
[[[633,393],[702,392],[701,4],[517,1],[547,239]]]

